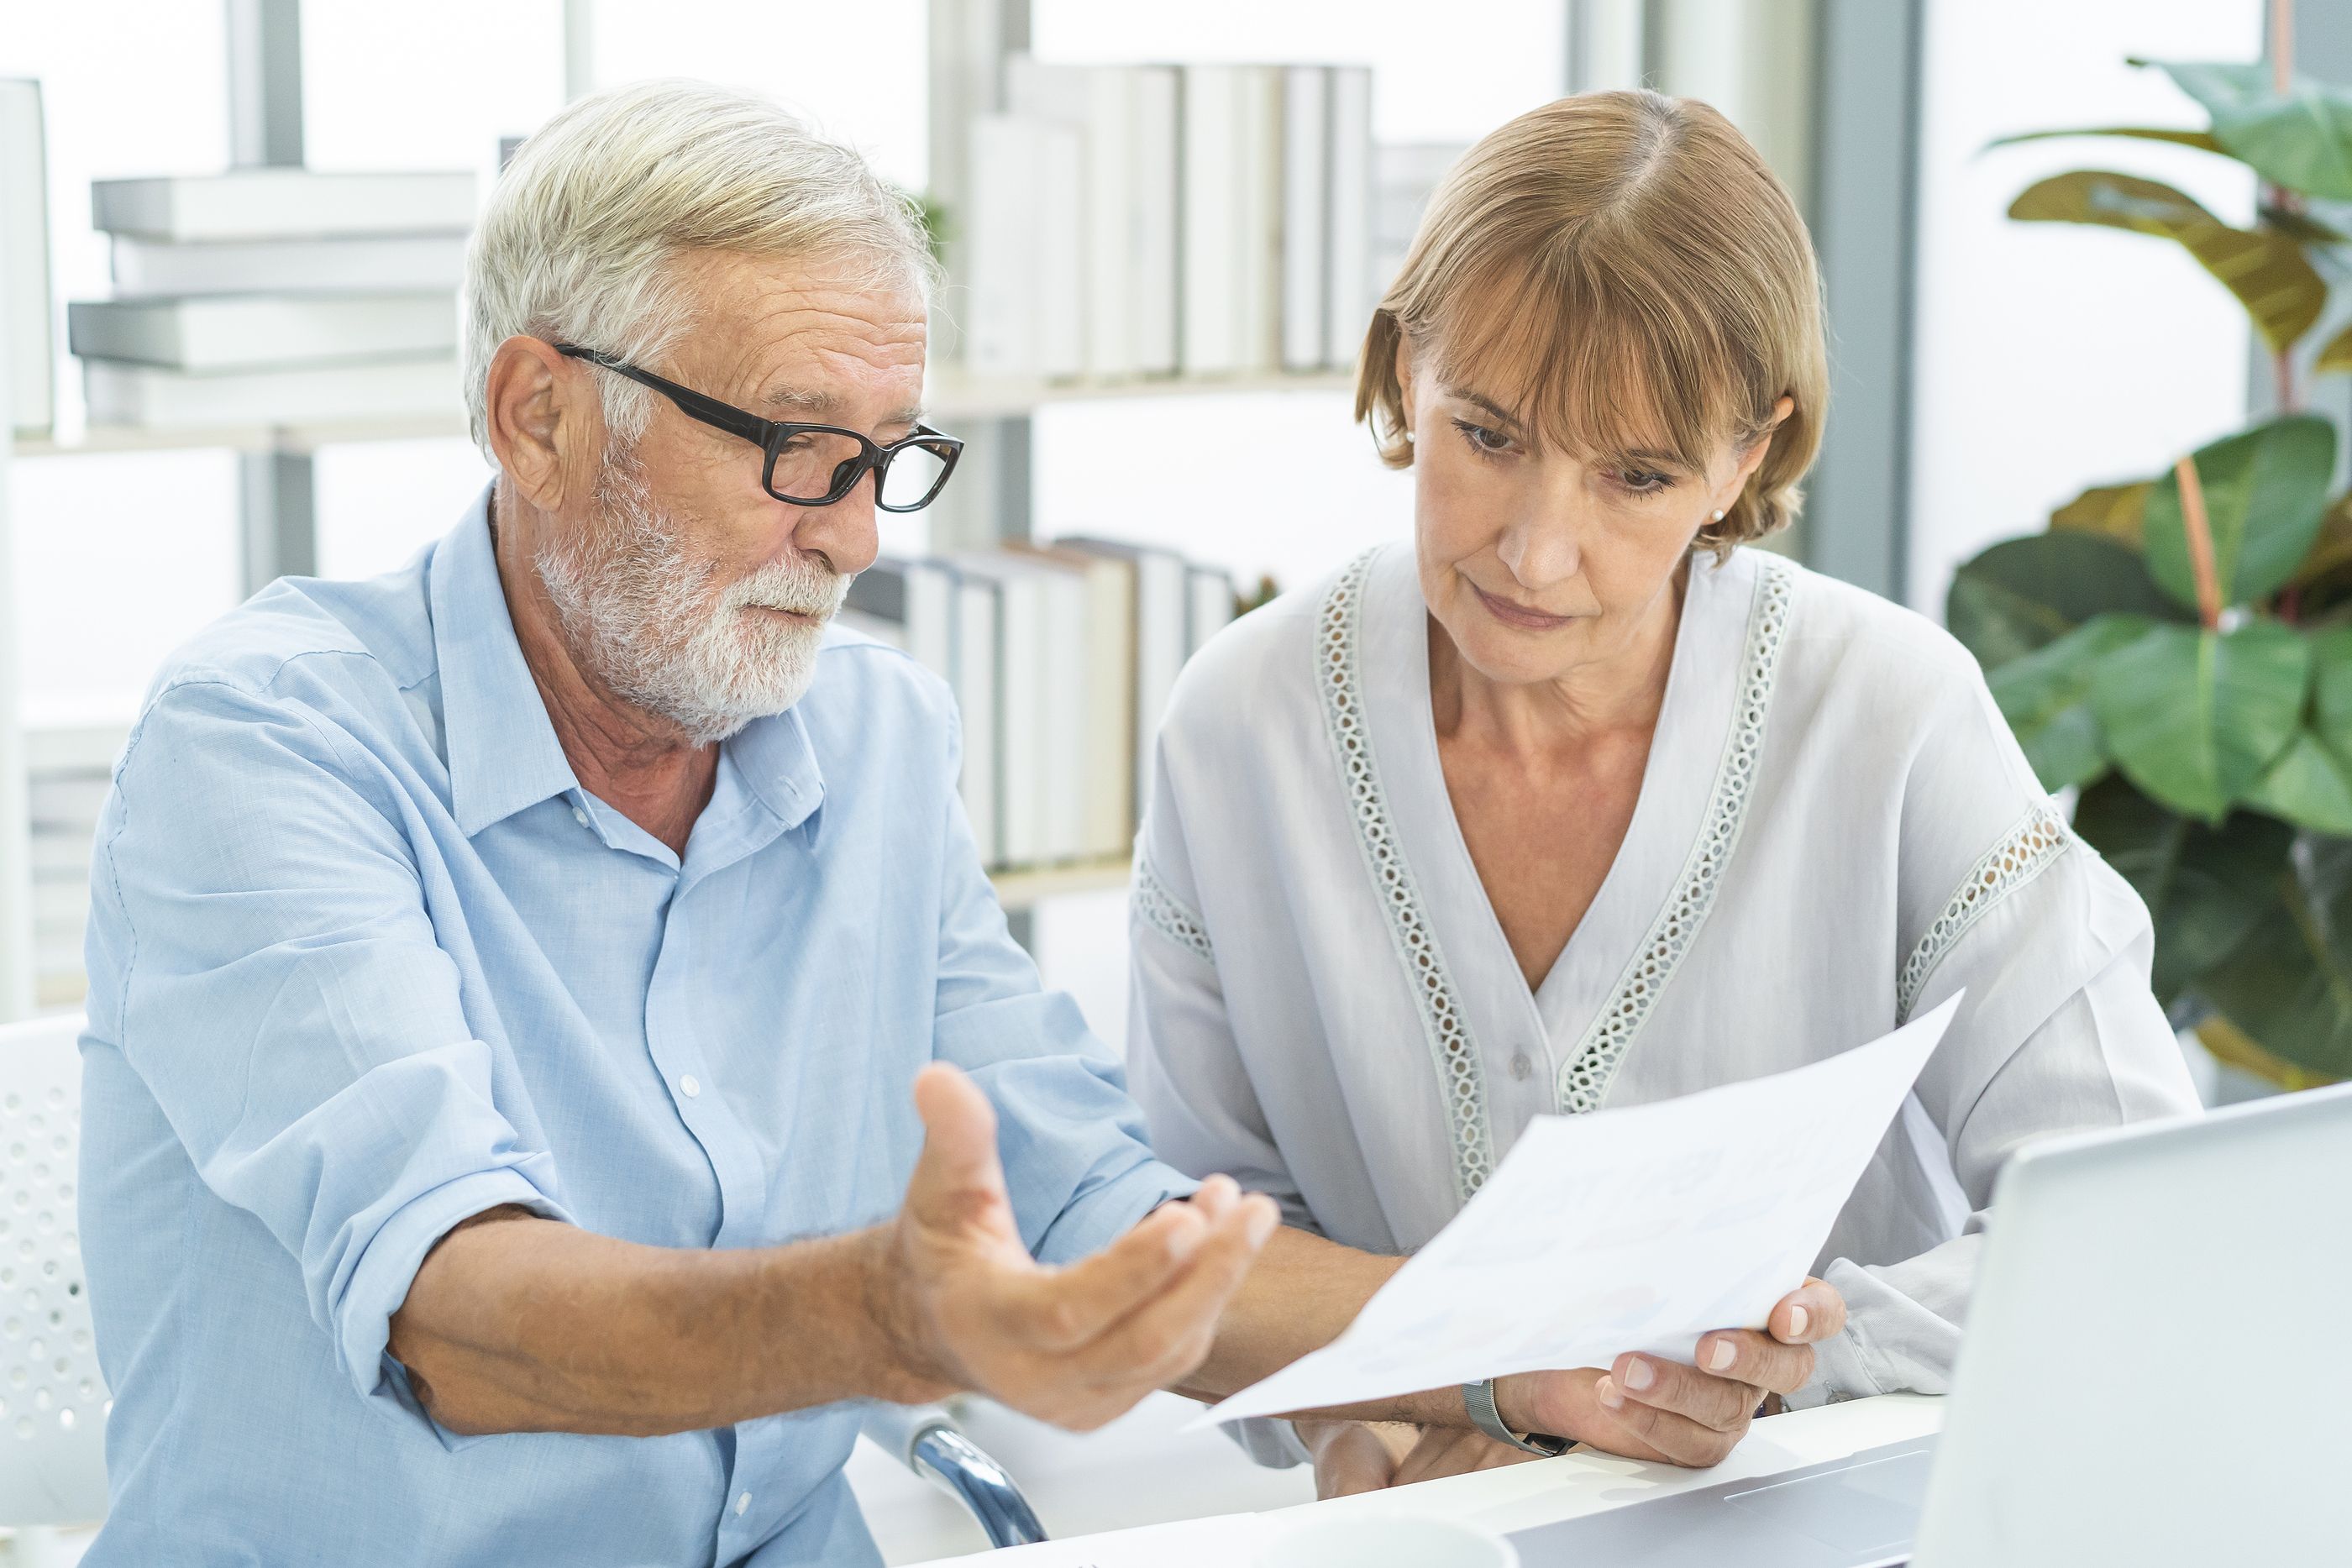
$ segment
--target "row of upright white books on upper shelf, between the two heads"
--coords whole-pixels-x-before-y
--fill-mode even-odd
[[[1371,71],[1007,61],[971,125],[983,376],[1355,364],[1374,306]]]

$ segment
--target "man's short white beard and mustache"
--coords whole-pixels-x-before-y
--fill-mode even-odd
[[[788,555],[715,585],[717,567],[687,552],[626,458],[604,463],[595,501],[600,529],[550,541],[532,562],[590,675],[677,724],[691,745],[724,741],[809,691],[847,576]]]

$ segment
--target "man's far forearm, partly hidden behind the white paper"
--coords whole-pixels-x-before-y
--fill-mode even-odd
[[[1359,1253],[1352,1246],[1279,1229],[1258,1253],[1256,1267],[1225,1316],[1216,1349],[1176,1385],[1190,1399],[1223,1399],[1268,1378],[1310,1349],[1322,1349],[1355,1321],[1374,1291],[1404,1267],[1404,1258]],[[1305,1415],[1305,1413],[1301,1413]],[[1312,1410],[1315,1420],[1399,1420],[1425,1427],[1468,1427],[1461,1389],[1428,1389],[1357,1406]]]

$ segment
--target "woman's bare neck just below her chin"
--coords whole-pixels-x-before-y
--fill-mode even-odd
[[[1468,741],[1479,750],[1538,757],[1581,748],[1595,736],[1646,733],[1665,705],[1689,571],[1689,562],[1675,571],[1621,649],[1541,682],[1498,682],[1482,675],[1430,616],[1430,715],[1437,736]]]

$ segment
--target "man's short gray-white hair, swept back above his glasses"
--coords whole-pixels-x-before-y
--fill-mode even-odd
[[[510,336],[649,364],[691,324],[682,252],[840,259],[877,284],[938,284],[917,205],[769,99],[689,80],[590,94],[522,143],[466,247],[466,425],[489,449],[489,360]],[[630,444],[652,393],[597,376]]]

